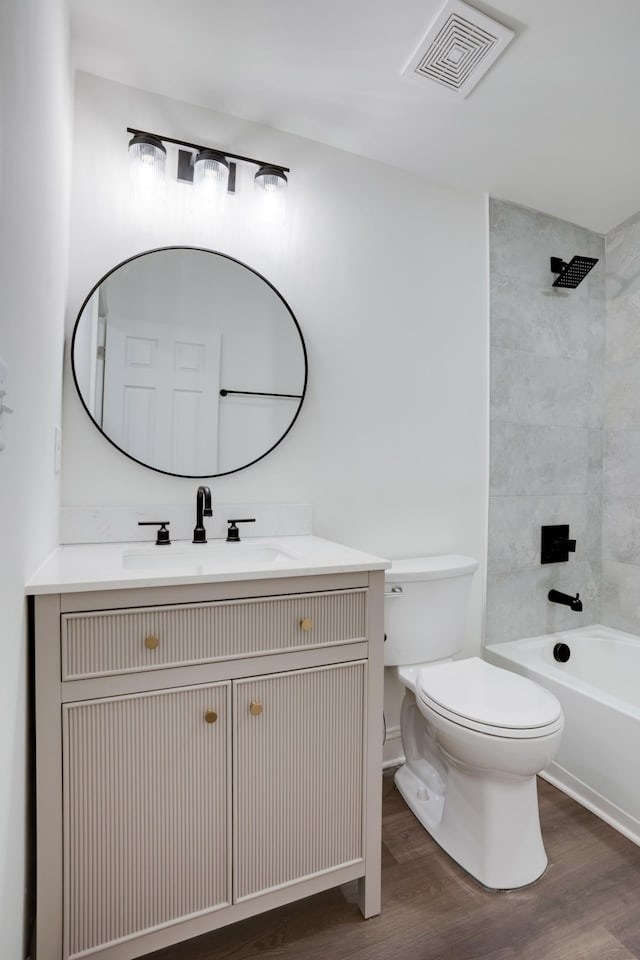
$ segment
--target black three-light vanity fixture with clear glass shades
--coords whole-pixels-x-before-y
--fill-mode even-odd
[[[199,143],[188,143],[185,140],[176,140],[174,137],[159,136],[127,127],[127,133],[133,134],[129,141],[129,153],[136,162],[145,162],[147,152],[152,149],[160,151],[166,157],[166,143],[176,144],[183,149],[178,150],[178,169],[176,179],[182,183],[193,183],[200,189],[208,190],[210,186],[226,185],[227,193],[236,191],[237,162],[250,163],[258,167],[255,174],[255,183],[268,192],[279,190],[287,185],[289,167],[265,163],[263,160],[254,160],[253,157],[243,157],[237,153],[228,153],[226,150],[216,150]],[[144,146],[144,150],[142,147]],[[143,156],[145,154],[145,156]],[[148,161],[147,161],[148,162]],[[163,166],[164,174],[164,166]]]

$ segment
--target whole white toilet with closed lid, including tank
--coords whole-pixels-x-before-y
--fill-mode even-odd
[[[394,560],[385,573],[385,665],[405,686],[395,783],[433,839],[494,890],[545,871],[536,774],[564,718],[526,677],[460,653],[476,560]]]

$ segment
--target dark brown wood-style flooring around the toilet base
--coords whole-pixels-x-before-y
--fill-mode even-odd
[[[637,960],[640,847],[539,780],[549,867],[491,893],[420,827],[384,775],[382,914],[355,884],[151,954],[148,960]]]

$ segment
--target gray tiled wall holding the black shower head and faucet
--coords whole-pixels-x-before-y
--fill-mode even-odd
[[[491,200],[489,213],[486,642],[498,643],[600,620],[605,250],[600,235],[524,207]],[[553,288],[550,257],[574,254],[601,262],[575,290]],[[640,256],[637,266],[640,301]],[[640,335],[636,362],[640,372]],[[620,446],[640,467],[640,416],[636,434],[635,453]],[[640,527],[640,483],[637,492]],[[570,524],[577,548],[568,563],[540,564],[548,523]],[[640,585],[640,548],[637,574]],[[583,613],[549,603],[551,587],[579,592]]]

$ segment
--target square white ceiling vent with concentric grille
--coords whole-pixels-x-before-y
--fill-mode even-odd
[[[448,0],[402,71],[467,97],[505,47],[513,30],[462,0]]]

